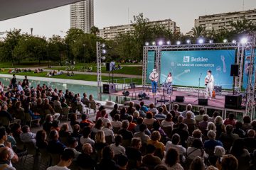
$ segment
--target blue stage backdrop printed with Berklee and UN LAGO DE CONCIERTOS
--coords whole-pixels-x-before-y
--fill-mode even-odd
[[[214,84],[223,89],[232,89],[230,65],[235,62],[235,50],[163,51],[161,53],[160,83],[171,72],[173,84],[204,87],[207,70],[212,71]]]

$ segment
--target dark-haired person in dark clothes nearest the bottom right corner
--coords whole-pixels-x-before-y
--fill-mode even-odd
[[[250,153],[245,149],[245,142],[241,138],[234,141],[230,154],[238,159],[238,170],[249,169]]]

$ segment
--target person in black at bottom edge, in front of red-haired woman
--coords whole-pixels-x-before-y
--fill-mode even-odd
[[[154,156],[156,147],[154,145],[146,145],[146,154],[142,158],[142,164],[146,166],[149,170],[154,169],[158,164],[161,164],[161,159]]]

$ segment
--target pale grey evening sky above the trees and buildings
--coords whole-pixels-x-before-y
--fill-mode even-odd
[[[256,8],[256,0],[94,0],[94,3],[98,28],[127,24],[134,15],[144,13],[150,21],[171,18],[181,33],[191,30],[198,16]],[[33,35],[48,38],[54,34],[64,36],[70,28],[70,6],[0,21],[0,32],[13,28],[20,28],[23,33],[30,33],[33,28]]]

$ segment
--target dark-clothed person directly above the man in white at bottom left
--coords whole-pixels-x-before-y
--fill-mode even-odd
[[[63,153],[65,145],[63,145],[60,140],[58,140],[59,135],[57,130],[50,131],[50,141],[48,142],[47,150],[51,154],[60,154]]]

